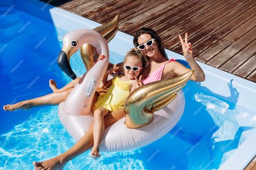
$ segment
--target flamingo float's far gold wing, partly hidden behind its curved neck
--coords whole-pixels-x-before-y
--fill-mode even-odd
[[[93,30],[99,32],[109,43],[118,31],[118,22],[119,15],[116,15],[112,21],[108,22],[107,24],[101,25]],[[83,60],[84,66],[86,66],[87,71],[89,71],[93,66],[94,58],[96,55],[97,53],[93,45],[83,44],[81,46],[81,58]]]

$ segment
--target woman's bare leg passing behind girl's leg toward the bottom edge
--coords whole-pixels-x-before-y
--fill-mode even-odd
[[[123,108],[112,112],[111,114],[104,117],[105,128],[113,125],[116,121],[124,117]],[[68,161],[74,159],[78,155],[86,152],[89,148],[93,146],[93,126],[91,123],[88,131],[83,137],[76,142],[76,144],[71,147],[68,151],[58,155],[55,158],[48,159],[43,162],[33,162],[36,169],[56,169],[58,167],[63,167]]]

